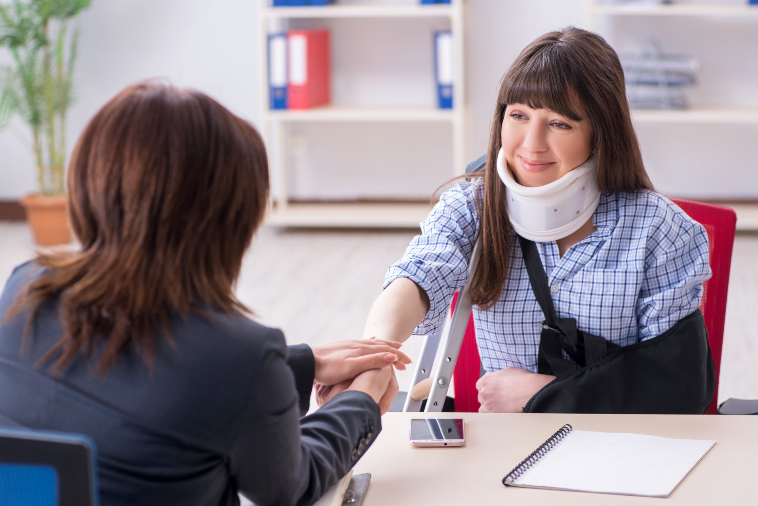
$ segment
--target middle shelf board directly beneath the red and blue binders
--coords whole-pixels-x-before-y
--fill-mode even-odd
[[[436,108],[379,108],[379,107],[350,107],[327,105],[312,109],[281,109],[267,110],[265,113],[270,120],[305,122],[305,121],[428,121],[452,122],[455,119],[454,109]]]

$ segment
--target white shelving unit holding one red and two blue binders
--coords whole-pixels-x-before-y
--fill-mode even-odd
[[[290,200],[287,176],[288,126],[293,123],[376,122],[376,123],[448,123],[452,126],[453,177],[465,169],[465,104],[463,103],[463,0],[449,5],[327,5],[321,7],[271,7],[271,0],[261,2],[259,37],[259,75],[262,89],[262,124],[260,131],[266,143],[271,174],[276,180],[271,211],[266,223],[271,226],[346,227],[346,228],[416,228],[430,211],[428,202],[372,203],[324,202],[302,203]],[[287,30],[289,20],[385,18],[449,20],[453,32],[453,109],[366,107],[359,105],[327,105],[309,110],[269,109],[268,97],[268,33]],[[381,41],[380,41],[381,42]],[[429,41],[432,43],[431,37]],[[429,76],[434,83],[434,76]],[[430,85],[432,88],[432,84]],[[337,148],[337,145],[335,145]],[[445,175],[441,175],[441,178]],[[441,179],[440,178],[440,179]]]

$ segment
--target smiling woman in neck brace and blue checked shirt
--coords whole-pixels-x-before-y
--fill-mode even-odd
[[[390,266],[364,337],[435,332],[471,279],[480,411],[521,412],[556,379],[537,372],[544,317],[518,236],[536,244],[557,317],[609,346],[655,338],[697,312],[711,274],[706,232],[654,192],[619,58],[597,34],[568,27],[518,55],[497,97],[486,168],[468,176]]]

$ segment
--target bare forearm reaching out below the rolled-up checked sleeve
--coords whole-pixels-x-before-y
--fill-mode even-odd
[[[404,342],[424,320],[429,297],[412,280],[399,277],[381,292],[368,313],[363,339]]]

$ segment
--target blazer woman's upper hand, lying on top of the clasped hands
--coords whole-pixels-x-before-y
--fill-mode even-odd
[[[395,364],[405,370],[411,359],[399,351],[399,342],[381,339],[361,341],[337,341],[326,345],[312,346],[316,361],[315,382],[321,385],[336,385],[355,378],[370,369],[380,369]]]

